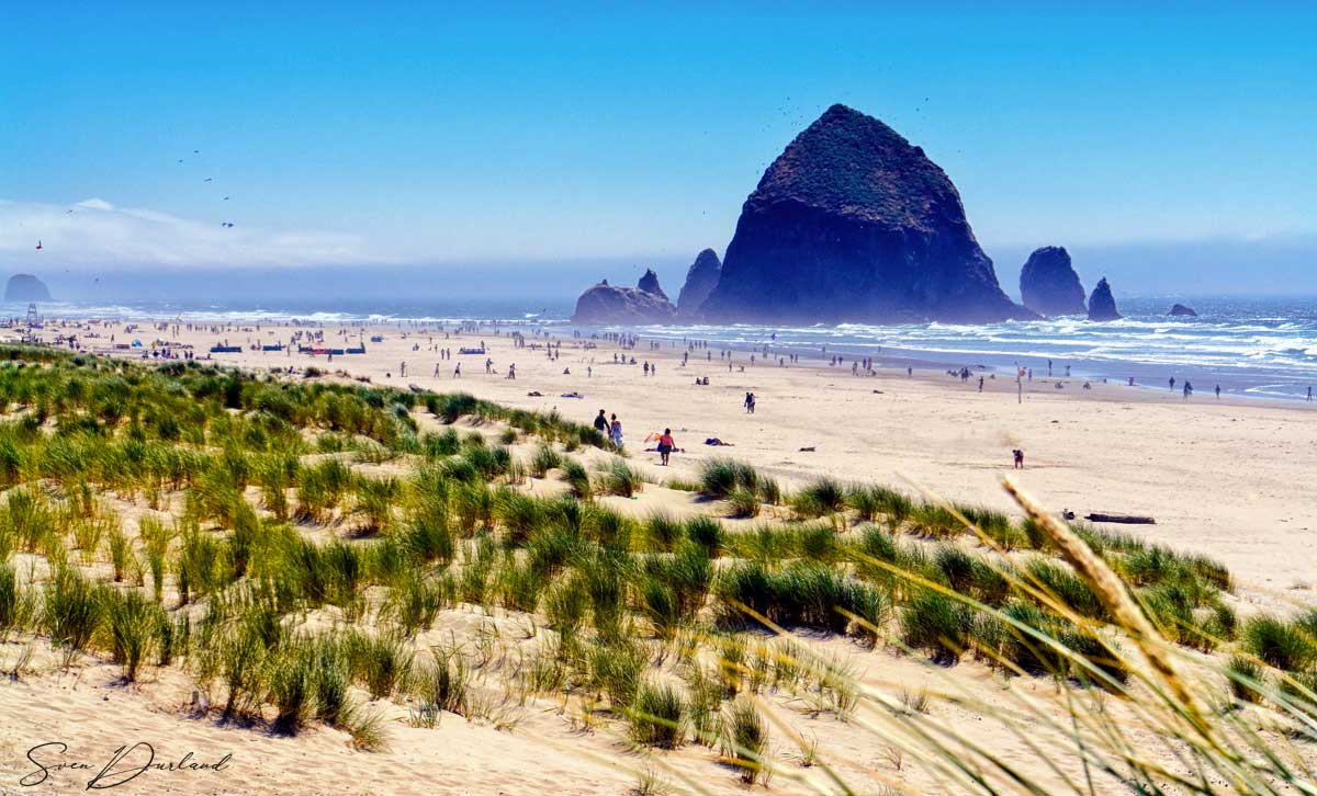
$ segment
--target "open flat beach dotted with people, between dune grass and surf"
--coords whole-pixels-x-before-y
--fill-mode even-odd
[[[1179,388],[1097,383],[1084,389],[1083,380],[1047,378],[1042,367],[1019,393],[1011,374],[1002,372],[988,374],[980,393],[980,371],[965,383],[932,368],[852,376],[851,361],[834,367],[823,353],[778,367],[761,355],[752,364],[749,351],[731,351],[728,362],[718,349],[694,350],[682,364],[684,349],[676,346],[651,347],[643,339],[624,350],[607,339],[535,337],[529,326],[456,332],[228,324],[182,328],[176,336],[174,326],[138,326],[124,333],[122,324],[107,324],[94,329],[101,337],[83,337],[82,345],[104,347],[111,334],[120,343],[141,339],[148,354],[153,341],[191,345],[219,364],[296,371],[311,366],[403,389],[470,392],[508,407],[557,410],[578,422],[605,409],[622,421],[632,459],[656,474],[658,457],[645,453],[653,443],[643,439],[673,430],[684,453],[672,457],[670,471],[661,474],[668,478],[690,479],[701,460],[732,455],[784,484],[828,474],[1010,509],[998,479],[1011,472],[1011,450],[1018,447],[1025,468],[1015,475],[1048,505],[1079,517],[1152,516],[1156,525],[1123,528],[1218,558],[1237,575],[1247,601],[1306,604],[1317,585],[1317,495],[1303,488],[1306,474],[1317,470],[1317,404],[1216,399],[1205,386],[1189,400]],[[287,343],[298,329],[323,332],[325,342],[316,345],[363,343],[366,353],[331,362],[295,349],[250,350]],[[43,334],[70,332],[78,330],[57,322]],[[527,347],[516,347],[512,333],[527,336]],[[375,336],[382,341],[369,342]],[[244,350],[208,354],[221,342]],[[551,342],[552,361],[545,347]],[[482,345],[485,355],[458,354]],[[440,359],[437,349],[450,349],[453,359]],[[141,349],[121,354],[140,359]],[[628,364],[615,363],[615,357]],[[489,374],[486,359],[493,361]],[[655,363],[655,375],[644,375],[645,362]],[[461,378],[454,378],[458,363]],[[508,366],[516,368],[515,380],[507,379]],[[705,376],[709,386],[697,387],[695,379]],[[562,397],[570,392],[585,397]],[[743,408],[747,392],[757,397],[755,414]],[[706,446],[709,438],[732,447]],[[814,450],[801,450],[806,447]]]

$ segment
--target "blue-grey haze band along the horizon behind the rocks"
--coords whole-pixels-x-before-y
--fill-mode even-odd
[[[1117,297],[1317,296],[1309,279],[1309,254],[1317,238],[1303,241],[1212,241],[1071,246],[1075,270],[1085,292],[1105,276]],[[715,247],[722,257],[722,247]],[[1019,270],[1033,247],[988,249],[1002,289],[1019,300]],[[246,300],[435,300],[504,299],[574,300],[601,279],[633,286],[645,268],[676,300],[694,259],[681,257],[618,257],[541,262],[486,261],[478,263],[407,263],[370,266],[308,264],[298,267],[119,267],[87,270],[9,268],[36,274],[55,300],[165,301]],[[1208,264],[1204,274],[1204,264]],[[1247,280],[1234,274],[1250,272]],[[399,280],[407,289],[399,291]]]

